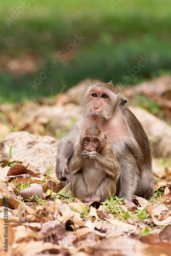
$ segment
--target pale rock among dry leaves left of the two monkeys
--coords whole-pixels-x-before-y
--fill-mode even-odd
[[[55,159],[58,141],[50,136],[32,135],[28,132],[14,132],[6,135],[0,144],[0,152],[3,159],[9,159],[10,146],[12,146],[12,158],[20,158],[34,166],[38,173],[55,172]]]

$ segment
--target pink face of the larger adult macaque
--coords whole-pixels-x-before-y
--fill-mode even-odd
[[[110,101],[108,94],[101,90],[92,89],[89,92],[89,98],[91,102],[91,114],[95,116],[104,115],[104,111],[108,107]]]

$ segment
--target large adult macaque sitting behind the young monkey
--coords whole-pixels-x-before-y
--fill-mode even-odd
[[[61,138],[58,146],[56,174],[59,180],[73,180],[70,163],[76,155],[82,131],[96,122],[108,140],[121,174],[116,195],[132,200],[133,195],[147,200],[154,194],[152,150],[141,124],[124,105],[127,102],[112,81],[89,86],[82,98],[82,118]]]

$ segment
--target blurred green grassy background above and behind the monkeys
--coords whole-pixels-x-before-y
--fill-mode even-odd
[[[1,1],[0,101],[53,97],[87,77],[170,74],[170,10],[170,0]]]

